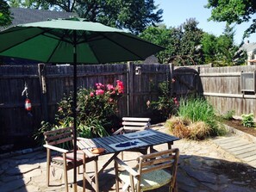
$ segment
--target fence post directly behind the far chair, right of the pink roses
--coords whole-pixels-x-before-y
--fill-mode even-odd
[[[127,63],[127,71],[128,71],[128,79],[127,79],[127,87],[128,87],[128,116],[133,116],[134,113],[134,64],[132,62]]]

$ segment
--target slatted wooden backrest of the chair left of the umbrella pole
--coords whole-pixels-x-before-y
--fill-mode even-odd
[[[73,127],[65,127],[44,133],[47,145],[57,146],[66,142],[73,144]]]

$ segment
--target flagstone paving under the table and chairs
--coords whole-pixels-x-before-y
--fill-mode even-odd
[[[161,126],[153,128],[166,131]],[[185,139],[176,141],[173,147],[178,147],[180,150],[178,191],[255,192],[256,169],[253,164],[247,164],[247,162],[254,161],[254,145],[252,141],[235,134],[200,142]],[[165,150],[166,145],[157,146],[157,149]],[[248,152],[243,152],[245,149]],[[128,160],[134,159],[139,154],[125,152],[124,155]],[[106,159],[108,159],[108,155],[100,158],[99,164]],[[86,164],[86,169],[91,174],[93,173],[92,168],[91,163]],[[72,170],[69,170],[69,191],[73,191],[72,176]],[[46,152],[44,150],[12,157],[0,156],[1,192],[64,191],[62,170],[53,171],[50,179],[51,186],[47,187]],[[113,164],[110,164],[100,176],[100,191],[115,190],[114,169]],[[82,191],[82,174],[78,174],[78,191]],[[168,189],[163,187],[154,191],[164,192]]]

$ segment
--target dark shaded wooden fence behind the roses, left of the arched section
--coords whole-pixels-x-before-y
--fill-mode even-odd
[[[138,75],[136,75],[138,73]],[[146,116],[147,101],[158,97],[158,84],[170,78],[170,65],[78,65],[78,88],[94,88],[96,83],[125,86],[118,104],[118,115]],[[28,98],[32,111],[24,109]],[[32,134],[41,121],[53,122],[57,102],[73,90],[73,67],[70,65],[6,65],[0,66],[0,146],[18,140],[33,140]],[[1,151],[1,150],[0,150]]]

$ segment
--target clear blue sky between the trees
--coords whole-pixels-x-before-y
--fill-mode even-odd
[[[225,22],[208,22],[210,9],[203,6],[207,4],[207,0],[155,0],[155,4],[159,4],[159,9],[164,10],[163,23],[169,27],[178,27],[189,18],[196,18],[198,28],[210,34],[220,35],[225,28]],[[253,17],[256,18],[256,15]],[[235,26],[234,41],[240,44],[243,32],[250,26],[250,22],[242,23]],[[250,42],[256,42],[256,34],[246,39]]]

